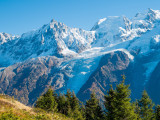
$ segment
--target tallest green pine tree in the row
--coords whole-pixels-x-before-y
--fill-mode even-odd
[[[131,91],[129,85],[125,85],[125,76],[122,76],[122,83],[116,86],[116,119],[115,120],[136,120],[137,115],[135,113],[135,108],[130,102]]]

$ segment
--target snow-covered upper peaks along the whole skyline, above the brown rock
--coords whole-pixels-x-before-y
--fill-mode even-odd
[[[12,44],[2,45],[1,53],[19,61],[47,55],[74,56],[90,48],[116,46],[140,37],[153,29],[153,20],[159,19],[160,11],[152,9],[146,14],[137,14],[131,20],[125,16],[109,16],[100,19],[91,31],[70,28],[52,19],[38,30],[22,34]],[[11,40],[9,35],[1,33],[0,36],[2,43]],[[6,48],[9,51],[5,51]]]

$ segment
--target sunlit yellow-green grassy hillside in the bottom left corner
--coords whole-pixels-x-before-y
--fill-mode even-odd
[[[0,120],[71,120],[59,113],[31,108],[7,95],[0,95]]]

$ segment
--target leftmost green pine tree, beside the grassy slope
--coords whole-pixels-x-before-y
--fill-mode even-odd
[[[53,91],[51,88],[49,88],[48,91],[36,101],[35,107],[41,108],[47,111],[57,110],[57,102],[53,96]]]

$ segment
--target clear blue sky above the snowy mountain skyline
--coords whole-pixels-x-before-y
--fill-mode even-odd
[[[160,10],[160,0],[0,0],[0,32],[21,35],[51,19],[90,30],[107,16],[132,18],[148,8]]]

